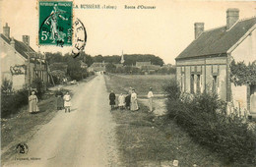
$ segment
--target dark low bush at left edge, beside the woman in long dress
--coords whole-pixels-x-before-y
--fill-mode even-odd
[[[12,94],[1,93],[1,117],[7,118],[16,114],[22,106],[28,104],[28,93],[27,89]]]

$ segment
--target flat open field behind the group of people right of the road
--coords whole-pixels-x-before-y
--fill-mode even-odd
[[[107,75],[105,80],[108,90],[115,93],[127,93],[129,87],[135,88],[137,94],[146,95],[152,87],[155,94],[162,94],[162,85],[174,79],[174,75]]]

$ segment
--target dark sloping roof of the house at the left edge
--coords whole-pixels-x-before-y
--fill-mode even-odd
[[[0,33],[1,38],[3,38],[8,44],[10,44],[11,42],[11,38],[8,38],[7,36],[5,36],[4,34]],[[15,50],[17,52],[19,52],[24,58],[28,59],[28,55],[26,54],[26,52],[28,52],[28,46],[19,40],[14,39],[15,41]],[[34,52],[35,51],[32,49],[32,47],[30,46],[29,48],[30,52]]]

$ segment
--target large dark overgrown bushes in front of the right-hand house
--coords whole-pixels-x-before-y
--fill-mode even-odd
[[[219,153],[228,163],[256,163],[255,130],[248,130],[248,123],[238,116],[226,116],[225,103],[217,94],[181,94],[175,81],[166,86],[165,92],[167,117],[195,141]]]

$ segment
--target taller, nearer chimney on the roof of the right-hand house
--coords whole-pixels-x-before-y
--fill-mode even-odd
[[[226,29],[231,28],[239,20],[239,10],[229,8],[226,10]]]

